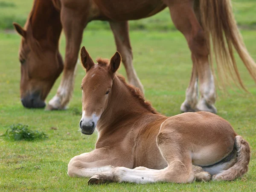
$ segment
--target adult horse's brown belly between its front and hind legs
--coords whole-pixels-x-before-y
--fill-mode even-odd
[[[154,15],[166,5],[160,0],[93,0],[105,17],[116,21],[136,20]]]

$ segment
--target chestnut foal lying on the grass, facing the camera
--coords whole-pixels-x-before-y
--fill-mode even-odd
[[[96,149],[73,157],[70,177],[89,183],[233,180],[248,170],[250,146],[229,122],[209,112],[166,117],[138,88],[116,75],[121,56],[94,64],[84,47],[81,62],[83,134],[99,136]]]

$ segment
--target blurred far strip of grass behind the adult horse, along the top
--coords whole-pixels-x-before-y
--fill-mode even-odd
[[[24,26],[26,18],[32,9],[32,0],[0,0],[0,29],[13,29],[15,21]],[[256,2],[255,0],[232,0],[237,23],[245,29],[256,29]],[[110,29],[106,21],[92,21],[87,29]],[[176,30],[173,25],[169,9],[153,17],[130,21],[132,30]]]

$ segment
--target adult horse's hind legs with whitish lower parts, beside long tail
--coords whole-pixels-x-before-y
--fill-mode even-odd
[[[194,0],[164,0],[169,7],[171,17],[176,28],[183,33],[192,53],[193,70],[197,71],[200,83],[201,98],[197,102],[196,75],[192,78],[187,89],[186,100],[181,106],[181,111],[209,111],[216,113],[214,78],[209,66],[207,39],[195,15]]]

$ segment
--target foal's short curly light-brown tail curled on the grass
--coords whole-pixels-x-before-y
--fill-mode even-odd
[[[249,143],[241,136],[236,136],[235,148],[237,149],[236,163],[229,169],[212,176],[212,180],[234,180],[248,171],[250,161]]]

